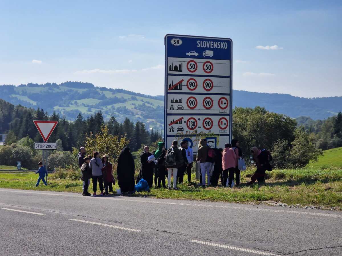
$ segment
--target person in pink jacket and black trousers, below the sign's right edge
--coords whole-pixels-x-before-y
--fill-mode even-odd
[[[226,143],[224,147],[225,148],[222,153],[223,184],[227,186],[228,177],[228,187],[232,187],[236,164],[236,154],[232,149],[232,144]]]

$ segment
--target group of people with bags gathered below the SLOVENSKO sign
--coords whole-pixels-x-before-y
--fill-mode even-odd
[[[264,181],[265,164],[263,162],[262,151],[257,147],[251,149],[251,154],[257,163],[257,171],[251,177],[253,184]],[[240,169],[238,168],[239,159],[243,158],[242,150],[238,140],[225,144],[225,148],[211,148],[206,139],[200,139],[198,144],[198,154],[196,161],[200,164],[200,181],[202,187],[217,186],[221,177],[222,186],[232,187],[240,184]],[[80,148],[78,162],[82,173],[83,195],[90,196],[88,187],[90,179],[93,183],[93,195],[96,195],[97,183],[101,195],[108,195],[113,192],[115,179],[113,176],[113,165],[109,162],[108,155],[100,158],[98,152],[93,152],[93,156],[86,156],[86,149]],[[141,169],[137,179],[134,179],[135,164],[129,147],[124,147],[117,162],[117,179],[121,193],[134,193],[135,184],[144,179],[149,188],[168,188],[178,189],[177,184],[182,184],[184,174],[187,172],[187,179],[191,185],[191,169],[194,162],[193,150],[188,146],[188,141],[182,141],[180,146],[177,141],[173,141],[170,148],[165,148],[164,142],[158,142],[158,149],[150,152],[148,146],[144,146],[143,153],[140,155]],[[43,170],[42,170],[43,171]],[[173,177],[173,188],[171,178]]]

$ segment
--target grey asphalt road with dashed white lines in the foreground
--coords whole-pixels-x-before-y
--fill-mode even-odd
[[[0,189],[0,255],[342,255],[342,213]]]

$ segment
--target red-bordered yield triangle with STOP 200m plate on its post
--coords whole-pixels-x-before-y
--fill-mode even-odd
[[[44,140],[44,143],[35,142],[35,149],[37,150],[43,150],[43,165],[45,166],[45,169],[48,171],[48,151],[47,150],[56,150],[57,149],[57,143],[47,143],[48,139],[50,138],[53,130],[55,129],[56,125],[58,124],[58,121],[39,121],[34,120],[33,121],[35,126],[37,127],[41,137]]]

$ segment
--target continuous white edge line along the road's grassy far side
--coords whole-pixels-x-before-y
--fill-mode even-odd
[[[313,216],[325,216],[332,218],[342,218],[342,214],[332,214],[332,213],[320,213],[320,212],[303,212],[296,210],[276,210],[276,209],[261,209],[261,208],[248,208],[248,207],[239,207],[239,206],[228,206],[228,205],[215,205],[211,204],[200,204],[200,203],[176,203],[176,202],[162,202],[158,201],[158,199],[151,200],[136,200],[136,199],[124,199],[124,198],[110,198],[110,197],[83,197],[80,195],[68,195],[68,194],[53,194],[53,193],[44,193],[44,192],[33,192],[33,191],[20,191],[20,190],[7,190],[0,189],[0,191],[4,192],[14,192],[14,193],[27,193],[27,194],[40,194],[40,195],[49,195],[49,196],[69,196],[69,197],[79,197],[83,199],[111,199],[116,201],[127,201],[127,202],[144,202],[144,203],[157,203],[157,204],[170,204],[170,205],[184,205],[184,206],[195,206],[195,207],[208,207],[208,208],[223,208],[223,209],[237,209],[237,210],[247,210],[247,211],[259,211],[259,212],[274,212],[274,213],[291,213],[291,214],[304,214],[304,215],[313,215]],[[72,194],[72,193],[70,193]],[[165,199],[170,200],[170,199]],[[270,207],[274,208],[274,207]]]

